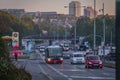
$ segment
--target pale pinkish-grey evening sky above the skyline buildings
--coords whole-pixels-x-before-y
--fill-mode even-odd
[[[25,9],[26,12],[51,12],[59,14],[68,14],[68,8],[71,1],[79,1],[81,6],[92,6],[94,0],[0,0],[0,9]],[[96,11],[102,9],[104,3],[105,14],[115,15],[115,0],[96,0]],[[83,14],[83,8],[81,9]]]

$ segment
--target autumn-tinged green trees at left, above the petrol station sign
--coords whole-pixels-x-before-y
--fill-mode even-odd
[[[11,35],[12,32],[19,32],[20,36],[29,35],[33,33],[34,23],[29,17],[22,17],[20,19],[6,12],[0,11],[0,32],[4,35]]]

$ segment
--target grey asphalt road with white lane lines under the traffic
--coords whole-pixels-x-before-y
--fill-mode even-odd
[[[115,80],[113,68],[86,69],[84,64],[70,64],[69,59],[64,59],[62,64],[46,64],[38,50],[31,55],[30,59],[18,60],[16,65],[18,67],[23,65],[34,75],[33,80]],[[45,75],[41,77],[40,74]]]

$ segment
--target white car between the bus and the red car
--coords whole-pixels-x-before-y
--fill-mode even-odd
[[[73,52],[70,58],[71,64],[85,63],[84,54],[80,52]]]

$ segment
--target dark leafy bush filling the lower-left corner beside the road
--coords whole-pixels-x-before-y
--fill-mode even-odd
[[[0,79],[1,80],[31,80],[31,75],[24,69],[17,69],[8,59],[6,42],[1,39],[0,32]]]

